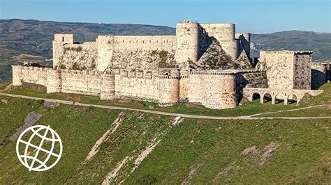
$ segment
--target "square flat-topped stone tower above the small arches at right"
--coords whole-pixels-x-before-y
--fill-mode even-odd
[[[260,51],[269,88],[311,89],[312,51]]]

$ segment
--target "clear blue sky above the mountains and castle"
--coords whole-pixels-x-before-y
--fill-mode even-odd
[[[231,22],[237,32],[331,32],[331,0],[0,0],[0,19],[154,24]]]

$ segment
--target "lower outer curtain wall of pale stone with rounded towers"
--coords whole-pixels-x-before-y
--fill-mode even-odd
[[[53,70],[41,67],[13,67],[13,86],[34,83],[47,93],[75,93],[101,99],[137,99],[170,106],[186,99],[207,108],[237,106],[235,73],[179,70]],[[181,85],[182,84],[182,85]]]

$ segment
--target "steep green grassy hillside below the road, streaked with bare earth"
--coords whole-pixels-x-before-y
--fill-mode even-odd
[[[176,120],[134,111],[68,105],[51,109],[41,101],[0,99],[8,101],[0,103],[0,123],[8,127],[4,131],[1,124],[1,137],[12,134],[26,113],[35,111],[43,115],[36,124],[50,124],[64,144],[57,166],[29,172],[16,157],[15,140],[7,142],[0,148],[0,184],[100,184],[105,179],[124,184],[331,182],[331,120]],[[115,118],[117,124],[112,124]],[[108,129],[112,134],[86,161]]]

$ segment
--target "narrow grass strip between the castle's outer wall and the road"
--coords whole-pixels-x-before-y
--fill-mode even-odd
[[[242,115],[253,115],[258,113],[266,113],[266,112],[274,112],[274,111],[286,111],[295,108],[304,108],[307,106],[316,106],[321,104],[331,104],[331,83],[325,83],[321,89],[325,90],[325,93],[318,95],[316,97],[311,97],[309,102],[304,104],[297,105],[297,102],[290,102],[288,105],[284,105],[284,101],[278,100],[275,105],[271,104],[271,101],[265,102],[264,104],[260,104],[260,99],[256,99],[253,102],[247,102],[237,108],[229,108],[229,109],[210,109],[205,108],[205,106],[200,106],[197,104],[190,103],[182,103],[175,106],[163,107],[158,104],[151,102],[139,102],[134,100],[123,100],[123,99],[114,99],[114,100],[101,100],[100,97],[89,96],[89,95],[77,95],[77,94],[68,94],[68,93],[50,93],[46,94],[45,89],[36,90],[34,88],[25,88],[25,87],[17,87],[12,90],[9,90],[8,93],[16,94],[16,95],[26,95],[31,97],[43,97],[49,99],[63,99],[67,101],[80,102],[86,104],[101,104],[108,106],[123,106],[128,108],[138,108],[138,109],[147,109],[152,111],[165,111],[170,113],[185,113],[185,114],[193,114],[193,115],[214,115],[214,116],[242,116]],[[297,111],[297,112],[306,112],[306,114],[301,113],[302,116],[318,116],[318,115],[331,115],[331,107],[328,106],[323,107],[323,110],[319,110],[321,108],[309,108],[305,111]],[[314,113],[310,113],[311,110],[316,110]],[[318,111],[319,110],[319,111]],[[295,116],[296,111],[288,112],[286,115]],[[319,114],[317,114],[317,112]],[[281,116],[282,113],[278,113],[277,115]],[[265,116],[266,114],[260,115]],[[268,115],[270,116],[270,115]]]

